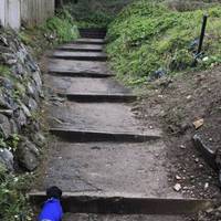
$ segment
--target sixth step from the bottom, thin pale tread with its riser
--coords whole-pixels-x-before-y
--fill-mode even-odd
[[[103,45],[96,44],[64,44],[57,48],[63,51],[76,51],[76,52],[102,52]]]

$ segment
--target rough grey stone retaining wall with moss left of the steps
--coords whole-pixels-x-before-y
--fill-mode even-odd
[[[32,171],[40,162],[42,97],[38,64],[17,33],[0,30],[0,166],[7,170]]]

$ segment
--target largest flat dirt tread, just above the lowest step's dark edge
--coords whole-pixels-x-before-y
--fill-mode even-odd
[[[69,143],[53,138],[42,165],[41,186],[67,192],[181,198],[168,183],[167,147],[151,143]],[[40,168],[41,169],[41,168]]]

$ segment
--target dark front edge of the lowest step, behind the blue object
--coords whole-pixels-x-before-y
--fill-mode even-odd
[[[29,197],[34,204],[45,200],[43,192],[32,192]],[[65,192],[62,203],[64,211],[71,213],[177,215],[197,213],[209,208],[212,201]]]

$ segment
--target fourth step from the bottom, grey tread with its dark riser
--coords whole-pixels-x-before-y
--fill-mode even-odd
[[[69,61],[61,59],[50,59],[48,72],[62,76],[114,76],[105,62]]]

